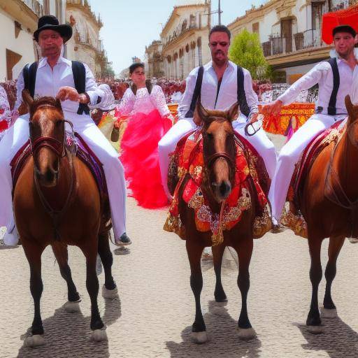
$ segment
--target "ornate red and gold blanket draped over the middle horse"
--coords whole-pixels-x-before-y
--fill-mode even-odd
[[[186,238],[185,227],[180,220],[178,208],[179,200],[182,199],[189,208],[194,209],[196,229],[203,232],[211,231],[213,245],[218,245],[223,240],[222,231],[232,229],[240,222],[243,212],[251,208],[250,192],[255,192],[256,195],[254,202],[257,217],[253,228],[255,238],[262,237],[271,229],[271,220],[266,205],[269,180],[263,160],[255,148],[239,134],[236,134],[235,145],[235,186],[222,204],[220,215],[211,210],[206,190],[203,189],[204,163],[201,131],[194,131],[178,143],[176,151],[171,155],[169,171],[169,181],[171,176],[176,176],[178,184],[173,194],[164,230],[175,232],[182,239]],[[180,187],[185,178],[187,180],[180,198]]]

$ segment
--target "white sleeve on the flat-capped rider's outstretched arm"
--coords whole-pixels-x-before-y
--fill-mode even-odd
[[[278,97],[278,100],[282,101],[284,106],[288,106],[290,103],[294,102],[294,100],[299,95],[299,92],[303,90],[309,90],[310,87],[317,85],[322,78],[322,75],[327,72],[328,62],[320,62],[316,64],[313,69],[311,69],[306,75],[296,80],[296,82],[289,87],[283,94]]]

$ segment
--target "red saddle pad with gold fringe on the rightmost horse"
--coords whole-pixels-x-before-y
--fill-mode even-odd
[[[288,203],[294,203],[297,213],[293,213],[285,207],[281,219],[282,224],[292,229],[296,235],[304,238],[308,237],[306,222],[299,211],[301,207],[300,198],[308,172],[317,156],[320,155],[320,152],[322,152],[327,145],[337,143],[345,130],[345,124],[346,120],[338,121],[325,131],[317,134],[302,152],[299,161],[296,163],[286,201]]]

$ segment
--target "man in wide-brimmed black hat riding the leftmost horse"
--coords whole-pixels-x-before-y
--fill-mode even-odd
[[[38,20],[34,39],[40,45],[43,58],[38,64],[34,63],[20,73],[17,99],[22,97],[22,90],[27,87],[32,96],[52,96],[62,101],[64,117],[73,122],[74,131],[80,134],[103,164],[115,241],[118,245],[128,244],[130,240],[125,234],[126,187],[123,167],[117,152],[92,121],[88,108],[88,104],[100,104],[103,94],[86,64],[77,63],[80,73],[75,76],[74,64],[62,57],[63,44],[71,36],[72,28],[66,24],[60,25],[55,16],[46,15]],[[83,93],[75,89],[76,83],[81,83]],[[8,245],[14,245],[18,239],[13,217],[10,161],[28,139],[29,114],[19,117],[0,142],[0,227],[7,227],[8,232],[3,240]]]

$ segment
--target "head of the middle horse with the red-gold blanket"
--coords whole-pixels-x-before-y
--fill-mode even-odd
[[[235,140],[232,120],[238,113],[238,103],[227,111],[206,110],[199,101],[196,115],[203,122],[203,157],[207,185],[215,200],[227,199],[235,180]]]

